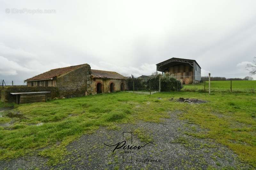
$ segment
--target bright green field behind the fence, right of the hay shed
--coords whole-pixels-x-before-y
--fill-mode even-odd
[[[183,85],[183,90],[198,91],[204,90],[204,82],[195,85]],[[213,91],[231,91],[230,81],[211,81],[211,90]],[[205,82],[205,89],[209,89],[209,81]],[[240,92],[254,92],[256,90],[256,81],[246,81],[246,80],[233,80],[232,81],[232,91]]]

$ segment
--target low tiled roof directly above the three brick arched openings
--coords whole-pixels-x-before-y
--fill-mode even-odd
[[[114,71],[91,70],[92,77],[96,78],[114,78],[114,79],[127,79],[123,75]]]

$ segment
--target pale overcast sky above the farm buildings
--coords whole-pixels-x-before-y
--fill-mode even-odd
[[[195,59],[202,76],[243,78],[256,56],[255,7],[255,0],[1,0],[0,79],[83,63],[137,77],[172,57]]]

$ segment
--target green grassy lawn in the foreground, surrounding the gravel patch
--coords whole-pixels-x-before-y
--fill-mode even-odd
[[[199,105],[169,100],[179,97],[209,102]],[[168,111],[175,110],[182,111],[181,120],[207,129],[207,133],[184,131],[185,134],[215,139],[256,167],[256,96],[228,92],[116,92],[16,105],[13,110],[0,113],[0,125],[9,123],[0,126],[0,159],[36,151],[54,165],[68,154],[66,146],[70,142],[100,126],[115,129],[118,123],[137,120],[161,122],[161,118],[169,117]]]

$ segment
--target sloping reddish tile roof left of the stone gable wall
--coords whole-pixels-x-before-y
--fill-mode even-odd
[[[50,71],[46,71],[42,74],[39,74],[37,76],[34,76],[32,78],[28,78],[24,81],[30,81],[30,80],[42,80],[42,79],[50,79],[50,78],[54,78],[56,76],[59,76],[61,74],[64,74],[68,71],[72,71],[75,70],[81,66],[84,66],[85,64],[81,64],[81,65],[74,65],[74,66],[69,66],[69,67],[62,67],[62,68],[58,68],[58,69],[52,69]]]

